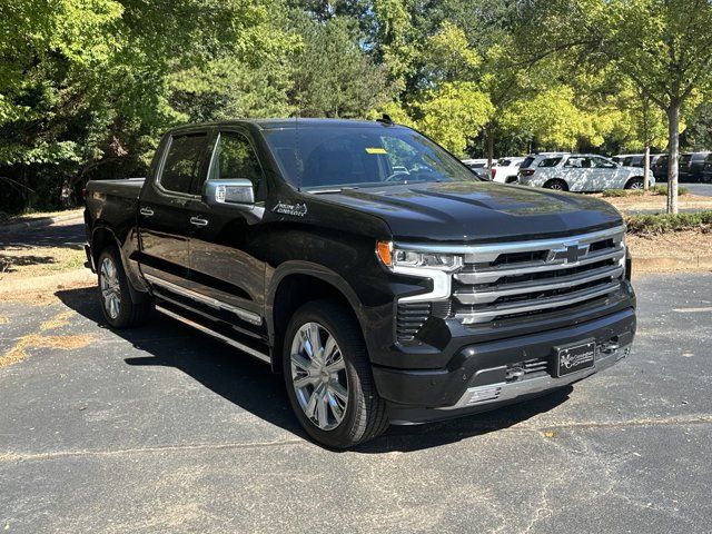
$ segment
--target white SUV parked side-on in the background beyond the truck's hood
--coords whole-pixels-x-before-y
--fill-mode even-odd
[[[560,191],[642,189],[643,169],[623,167],[595,154],[538,154],[522,162],[518,182]]]

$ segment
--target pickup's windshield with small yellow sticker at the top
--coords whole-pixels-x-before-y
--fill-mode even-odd
[[[453,156],[407,128],[299,126],[264,135],[285,178],[307,190],[479,181]]]

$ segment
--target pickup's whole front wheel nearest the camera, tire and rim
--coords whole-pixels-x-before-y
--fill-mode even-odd
[[[343,306],[315,300],[291,317],[283,372],[289,403],[309,436],[347,448],[388,427],[358,323]]]

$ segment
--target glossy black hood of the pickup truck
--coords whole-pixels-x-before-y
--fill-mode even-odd
[[[492,182],[386,186],[318,198],[379,217],[400,240],[531,239],[621,224],[621,215],[604,200]]]

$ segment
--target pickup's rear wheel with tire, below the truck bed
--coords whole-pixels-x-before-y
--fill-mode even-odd
[[[129,328],[146,322],[151,310],[147,297],[135,297],[123,271],[119,249],[110,245],[101,250],[97,261],[99,304],[103,318],[112,328]]]

